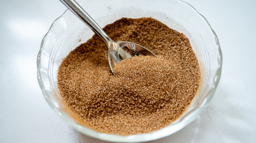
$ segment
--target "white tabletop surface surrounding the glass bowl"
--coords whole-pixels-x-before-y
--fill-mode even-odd
[[[162,142],[256,141],[256,1],[185,0],[216,32],[223,69],[203,113]],[[58,0],[1,0],[0,142],[104,142],[80,134],[43,98],[36,78],[41,40],[66,8]]]

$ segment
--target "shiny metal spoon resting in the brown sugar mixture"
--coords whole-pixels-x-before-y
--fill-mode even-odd
[[[107,45],[108,62],[111,72],[114,73],[114,67],[121,60],[126,60],[132,56],[155,56],[143,46],[132,42],[115,42],[111,40],[108,35],[99,27],[93,18],[75,1],[75,0],[59,0],[67,8],[69,8],[82,22],[84,22],[90,29],[94,31]]]

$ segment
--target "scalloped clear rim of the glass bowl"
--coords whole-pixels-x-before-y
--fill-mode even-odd
[[[81,3],[83,0],[81,0],[79,3]],[[201,114],[201,112],[203,111],[203,108],[206,107],[206,105],[209,103],[209,101],[211,100],[211,98],[213,97],[213,94],[216,90],[216,87],[220,81],[220,76],[221,76],[221,71],[222,71],[222,62],[223,62],[223,55],[222,55],[222,51],[221,51],[221,48],[220,48],[220,44],[219,44],[219,40],[218,40],[218,37],[216,35],[216,33],[214,32],[214,30],[212,29],[212,27],[210,26],[209,22],[206,20],[206,18],[201,14],[199,13],[193,6],[191,6],[190,4],[182,1],[182,0],[178,0],[182,3],[184,3],[185,5],[191,7],[197,14],[199,14],[199,16],[201,16],[203,18],[203,20],[207,23],[208,25],[208,28],[211,30],[214,38],[215,38],[215,42],[216,42],[216,45],[217,45],[217,50],[218,50],[218,69],[214,75],[214,82],[212,84],[212,87],[210,88],[210,90],[208,91],[207,93],[207,98],[205,97],[203,103],[201,104],[200,107],[198,107],[196,110],[197,111],[197,114]],[[100,132],[97,132],[97,135],[93,135],[93,133],[84,133],[80,127],[83,127],[82,125],[79,125],[78,123],[75,123],[74,120],[71,120],[71,119],[67,119],[67,116],[65,114],[63,114],[61,111],[59,111],[54,105],[53,103],[50,101],[50,99],[47,97],[47,94],[46,94],[46,91],[45,91],[45,87],[43,85],[43,82],[42,82],[42,79],[41,79],[41,76],[40,76],[40,56],[41,56],[41,52],[42,52],[42,49],[43,49],[43,45],[44,45],[44,41],[46,39],[46,37],[49,35],[49,33],[51,33],[51,29],[53,28],[53,25],[55,23],[57,23],[62,17],[63,15],[69,11],[68,9],[66,9],[64,11],[64,13],[58,17],[56,20],[54,20],[53,24],[50,26],[48,32],[45,34],[45,36],[43,37],[42,39],[42,42],[41,42],[41,46],[40,46],[40,50],[38,52],[38,55],[37,55],[37,80],[38,80],[38,84],[42,90],[42,93],[43,93],[43,96],[46,100],[46,102],[51,106],[51,108],[55,111],[55,113],[63,120],[65,120],[70,126],[72,126],[73,128],[75,128],[76,130],[80,131],[81,133],[83,134],[86,134],[88,136],[91,136],[91,137],[95,137],[95,138],[98,138],[98,139],[101,139],[101,140],[105,140],[105,141],[113,141],[113,142],[142,142],[142,141],[150,141],[150,140],[155,140],[155,139],[159,139],[159,138],[162,138],[162,137],[165,137],[165,136],[168,136],[168,135],[171,135],[173,134],[172,132],[171,133],[167,133],[167,134],[157,134],[156,135],[153,135],[153,133],[156,133],[160,130],[168,130],[168,126],[160,129],[160,130],[157,130],[157,131],[153,131],[153,132],[150,132],[150,133],[143,133],[143,134],[135,134],[135,135],[116,135],[116,134],[109,134],[109,133],[100,133]],[[49,76],[49,75],[48,75]],[[194,110],[195,111],[195,110]],[[193,111],[193,112],[194,112]],[[190,122],[192,122],[194,119],[191,119],[189,121],[186,121],[184,123],[184,126],[188,125]],[[172,125],[173,126],[173,125]],[[183,127],[184,127],[183,126]],[[177,131],[181,130],[183,127],[177,127]],[[86,127],[84,127],[86,128]],[[94,131],[93,129],[88,129],[88,131]],[[177,132],[176,131],[176,132]],[[175,133],[175,132],[174,132]],[[134,138],[135,136],[138,136],[138,135],[142,135],[142,136],[146,136],[145,138],[141,137],[140,139],[138,138]],[[113,136],[113,137],[117,137],[116,138],[113,138],[113,137],[110,137],[110,136]]]

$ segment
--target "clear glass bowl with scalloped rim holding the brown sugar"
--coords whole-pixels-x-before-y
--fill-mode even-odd
[[[57,88],[57,70],[63,58],[94,35],[86,25],[66,10],[53,22],[43,38],[37,57],[37,78],[45,100],[63,120],[81,133],[98,139],[142,142],[171,135],[192,122],[202,112],[220,80],[222,53],[215,32],[195,8],[179,0],[82,0],[80,4],[101,27],[122,17],[152,17],[185,34],[198,57],[202,82],[186,112],[175,122],[160,130],[122,136],[92,129],[63,103]]]

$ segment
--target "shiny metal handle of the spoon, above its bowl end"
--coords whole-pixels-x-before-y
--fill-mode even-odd
[[[69,8],[81,21],[83,21],[90,29],[94,31],[108,46],[112,41],[108,35],[100,28],[93,18],[75,1],[75,0],[59,0],[67,8]]]

